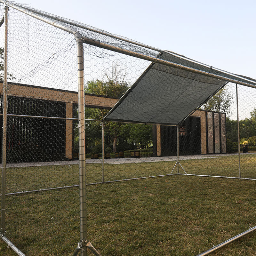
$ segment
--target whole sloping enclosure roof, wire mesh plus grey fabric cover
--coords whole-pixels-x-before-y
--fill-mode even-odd
[[[0,2],[74,34],[84,44],[152,61],[105,116],[106,120],[178,124],[226,82],[256,88],[256,80],[252,78],[213,68],[174,52],[163,51],[26,5],[4,0]]]

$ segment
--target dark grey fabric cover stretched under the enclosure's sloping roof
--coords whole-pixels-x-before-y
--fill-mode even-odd
[[[209,72],[204,66],[172,54],[162,53],[161,59]],[[152,63],[110,110],[105,120],[179,124],[225,84],[225,79]]]

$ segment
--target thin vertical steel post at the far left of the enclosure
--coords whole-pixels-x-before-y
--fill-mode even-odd
[[[2,200],[1,200],[1,234],[5,234],[5,191],[6,191],[6,126],[7,126],[7,36],[8,7],[4,12],[4,83],[3,83],[3,148],[2,148]]]

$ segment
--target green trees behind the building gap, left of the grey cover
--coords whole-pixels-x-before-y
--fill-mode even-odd
[[[120,68],[116,65],[112,69],[111,76],[106,76],[107,81],[100,81],[97,79],[87,82],[85,92],[91,94],[106,95],[113,98],[121,98],[129,88],[129,84],[125,82],[125,72],[122,73]],[[105,109],[90,108],[85,111],[85,116],[87,119],[101,120],[107,113],[108,110]],[[132,124],[105,122],[104,129],[105,148],[112,147],[113,152],[116,152],[117,148],[118,151],[134,149],[134,143],[140,144],[140,146],[144,148],[152,142],[152,127],[149,125],[147,125],[147,129],[145,129],[145,125],[134,126]],[[99,125],[97,127],[97,122],[91,122],[88,123],[88,126],[86,125],[86,137],[88,137],[86,139],[86,146],[88,146],[86,149],[87,152],[90,151],[90,148],[92,148],[93,144],[95,150],[100,150],[100,132],[101,127],[99,127]],[[138,133],[137,135],[136,132]],[[139,139],[140,136],[141,139]]]

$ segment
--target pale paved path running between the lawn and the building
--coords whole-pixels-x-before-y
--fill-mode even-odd
[[[251,155],[255,153],[247,153]],[[192,160],[192,159],[206,159],[216,158],[221,156],[238,156],[237,154],[208,154],[208,155],[193,155],[193,156],[180,156],[180,160]],[[245,155],[245,154],[240,154]],[[148,162],[166,162],[177,161],[177,156],[158,156],[158,157],[141,157],[141,158],[110,158],[105,159],[107,164],[132,164],[132,163],[148,163]],[[101,164],[102,159],[86,159],[86,163]],[[47,166],[47,165],[70,165],[78,164],[78,160],[74,161],[56,161],[56,162],[34,162],[34,163],[12,163],[6,164],[7,167],[29,167],[29,166]]]

